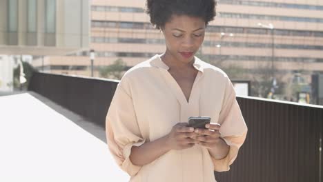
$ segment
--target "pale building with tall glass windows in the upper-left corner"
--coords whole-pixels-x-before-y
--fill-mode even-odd
[[[86,49],[89,14],[90,3],[83,0],[0,0],[0,54],[62,55]]]

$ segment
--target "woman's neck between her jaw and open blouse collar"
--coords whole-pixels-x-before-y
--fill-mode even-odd
[[[194,59],[186,63],[183,61],[179,61],[178,59],[173,57],[173,55],[170,54],[168,50],[166,50],[166,52],[164,52],[164,54],[161,55],[161,61],[164,61],[164,63],[166,63],[166,65],[170,69],[175,69],[175,70],[193,68],[193,64],[194,64]]]

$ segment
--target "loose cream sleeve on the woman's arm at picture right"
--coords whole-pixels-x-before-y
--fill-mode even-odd
[[[215,159],[212,156],[211,159],[214,164],[214,170],[223,172],[230,170],[230,165],[237,158],[239,148],[244,143],[248,131],[242,112],[235,99],[235,90],[228,78],[226,78],[224,101],[219,113],[219,124],[221,124],[221,137],[230,146],[230,150],[223,159]]]

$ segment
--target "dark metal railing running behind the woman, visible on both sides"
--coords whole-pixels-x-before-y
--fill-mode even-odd
[[[118,81],[37,72],[28,90],[104,127]],[[323,107],[237,97],[248,125],[246,142],[217,181],[322,181]]]

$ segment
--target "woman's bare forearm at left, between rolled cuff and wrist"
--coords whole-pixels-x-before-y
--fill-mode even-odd
[[[139,147],[133,146],[130,153],[130,161],[134,165],[146,165],[155,161],[159,156],[170,150],[166,143],[166,137],[163,136],[155,141],[144,143]]]

